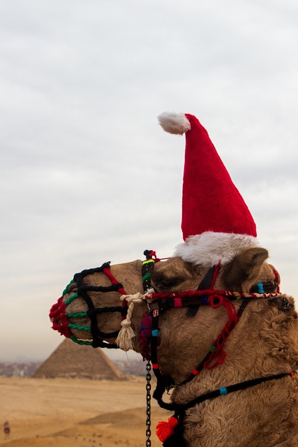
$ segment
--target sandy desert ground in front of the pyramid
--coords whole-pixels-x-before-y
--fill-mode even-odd
[[[140,447],[146,443],[145,379],[90,381],[0,377],[0,446]],[[152,403],[151,445],[158,420],[171,414]],[[3,423],[10,423],[5,439]]]

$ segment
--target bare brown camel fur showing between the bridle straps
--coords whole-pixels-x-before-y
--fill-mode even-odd
[[[266,261],[268,252],[251,248],[224,265],[216,279],[215,289],[248,292],[256,283],[275,280],[273,268]],[[143,292],[141,261],[111,266],[111,272],[126,293]],[[192,265],[181,258],[156,263],[152,285],[157,292],[196,290],[206,268]],[[84,278],[84,284],[110,285],[103,273]],[[66,300],[76,291],[72,284]],[[119,293],[90,293],[95,307],[119,306]],[[225,343],[226,358],[214,369],[202,369],[199,376],[184,385],[177,385],[171,400],[186,404],[195,397],[234,383],[298,368],[298,319],[294,300],[284,309],[279,298],[251,300]],[[235,307],[239,308],[241,300]],[[151,308],[156,307],[156,302]],[[82,312],[87,305],[77,298],[66,312]],[[131,317],[135,330],[134,350],[141,352],[138,337],[147,302],[135,304]],[[201,305],[195,316],[186,309],[167,309],[159,319],[160,344],[158,364],[163,374],[177,383],[186,380],[209,351],[214,339],[227,321],[223,307],[212,309]],[[70,318],[71,323],[88,325],[88,318]],[[120,328],[119,314],[98,315],[98,328],[112,332]],[[72,330],[80,339],[88,337],[82,330]],[[108,339],[114,342],[114,339]],[[222,395],[186,411],[184,439],[188,447],[297,447],[298,446],[298,377],[260,383],[257,386]]]

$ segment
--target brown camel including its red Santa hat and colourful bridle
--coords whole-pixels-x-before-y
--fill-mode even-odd
[[[198,118],[166,112],[186,135],[174,256],[83,270],[52,307],[79,344],[150,360],[153,397],[172,411],[164,447],[298,447],[298,318],[255,222]],[[165,391],[172,390],[170,402]],[[149,444],[147,444],[149,445]]]

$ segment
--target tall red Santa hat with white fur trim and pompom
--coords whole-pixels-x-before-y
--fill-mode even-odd
[[[165,112],[158,120],[166,132],[186,135],[184,242],[174,256],[207,267],[228,263],[243,249],[258,245],[253,217],[206,129],[196,117],[183,113]]]

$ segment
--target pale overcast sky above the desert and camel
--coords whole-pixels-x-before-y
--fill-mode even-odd
[[[75,272],[182,241],[164,111],[200,119],[297,295],[296,0],[2,0],[0,41],[0,360],[58,346]]]

